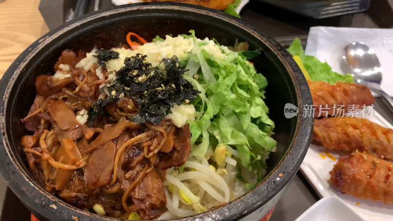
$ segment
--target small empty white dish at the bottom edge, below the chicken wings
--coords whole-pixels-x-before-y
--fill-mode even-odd
[[[314,203],[295,221],[362,221],[344,201],[328,196]]]

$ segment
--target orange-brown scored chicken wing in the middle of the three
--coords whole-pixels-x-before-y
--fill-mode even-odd
[[[315,119],[312,141],[329,150],[359,150],[393,160],[393,130],[366,118]]]

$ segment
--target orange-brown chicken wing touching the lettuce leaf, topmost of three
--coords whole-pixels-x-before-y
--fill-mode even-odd
[[[340,114],[337,111],[339,107],[347,112],[346,110],[351,109],[349,107],[351,105],[358,105],[357,108],[362,109],[362,106],[370,106],[375,102],[370,90],[364,85],[342,82],[329,84],[308,81],[308,83],[312,102],[315,105],[314,118]]]

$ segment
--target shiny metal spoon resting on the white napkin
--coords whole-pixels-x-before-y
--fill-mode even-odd
[[[352,42],[345,47],[343,58],[355,82],[368,86],[385,98],[393,111],[393,99],[381,89],[383,69],[375,51],[362,42]]]

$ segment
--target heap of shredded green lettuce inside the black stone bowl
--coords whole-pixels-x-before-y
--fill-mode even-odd
[[[220,47],[225,58],[216,59],[190,32],[196,50],[190,53],[184,79],[201,92],[193,101],[196,120],[189,122],[192,154],[204,157],[209,145],[235,146],[240,164],[260,177],[260,169],[266,168],[262,156],[277,145],[270,137],[274,122],[263,101],[266,78],[242,53]]]

